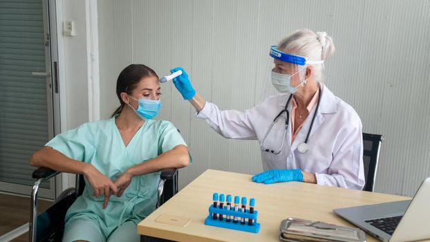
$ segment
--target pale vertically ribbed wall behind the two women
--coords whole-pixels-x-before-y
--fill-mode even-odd
[[[98,10],[103,118],[118,106],[116,78],[131,63],[160,76],[183,66],[206,100],[243,111],[270,86],[269,46],[299,28],[325,30],[336,46],[326,84],[365,132],[386,138],[376,191],[411,196],[430,176],[430,1],[103,0]],[[207,168],[261,171],[256,141],[219,136],[171,82],[162,93],[160,118],[174,122],[194,157],[180,187]]]

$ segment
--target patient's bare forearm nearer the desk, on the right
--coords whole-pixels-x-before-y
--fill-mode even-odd
[[[187,165],[189,165],[188,148],[185,145],[178,145],[152,160],[130,167],[126,172],[131,176],[140,176],[165,168],[182,168]]]

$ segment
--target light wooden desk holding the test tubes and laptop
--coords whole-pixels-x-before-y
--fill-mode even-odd
[[[308,183],[253,183],[251,175],[208,169],[138,224],[138,233],[173,241],[279,241],[279,223],[288,217],[353,227],[332,212],[337,207],[411,199]],[[258,234],[205,225],[212,194],[255,198]],[[191,218],[186,227],[156,222],[161,214]],[[378,241],[366,234],[367,241]]]

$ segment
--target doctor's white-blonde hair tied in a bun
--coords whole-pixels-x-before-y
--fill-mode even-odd
[[[333,39],[326,32],[313,32],[306,28],[296,30],[282,39],[278,49],[292,55],[300,55],[308,60],[328,59],[335,52]],[[317,82],[324,81],[324,64],[312,64],[313,77]]]

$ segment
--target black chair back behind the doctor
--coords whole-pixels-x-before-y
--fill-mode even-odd
[[[380,134],[363,133],[364,178],[366,179],[364,191],[373,192],[375,187],[377,162],[383,140],[384,138]]]

